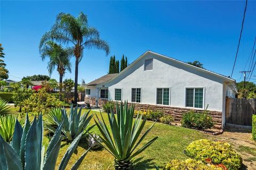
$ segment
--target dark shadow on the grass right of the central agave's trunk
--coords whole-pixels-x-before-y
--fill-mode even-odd
[[[155,165],[152,160],[154,159],[144,159],[144,157],[137,158],[133,161],[133,169],[154,169]]]

